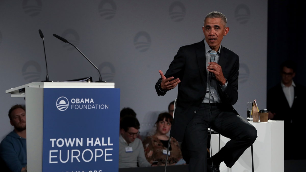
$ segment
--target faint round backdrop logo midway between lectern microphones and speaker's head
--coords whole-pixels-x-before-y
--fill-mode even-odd
[[[151,46],[151,37],[147,32],[140,31],[134,37],[134,46],[139,52],[147,51]]]

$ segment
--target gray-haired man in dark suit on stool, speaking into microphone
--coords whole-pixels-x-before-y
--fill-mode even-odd
[[[163,96],[178,84],[170,136],[186,143],[189,172],[218,172],[221,162],[232,167],[257,137],[257,130],[232,106],[238,99],[239,57],[221,45],[229,32],[226,24],[222,13],[207,14],[202,28],[205,39],[180,47],[165,75],[159,70],[161,78],[155,85]],[[217,52],[215,62],[210,62],[211,50]],[[231,139],[209,159],[207,127]]]

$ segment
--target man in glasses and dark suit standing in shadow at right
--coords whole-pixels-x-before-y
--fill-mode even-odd
[[[296,64],[287,60],[281,64],[282,80],[267,92],[269,119],[284,121],[285,160],[306,159],[305,115],[306,88],[293,82]]]

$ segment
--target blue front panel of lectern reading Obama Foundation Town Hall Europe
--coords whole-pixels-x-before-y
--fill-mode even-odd
[[[118,171],[120,89],[44,88],[43,172]]]

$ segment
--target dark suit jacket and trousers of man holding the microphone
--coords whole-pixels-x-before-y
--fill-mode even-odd
[[[227,87],[222,92],[217,84],[221,104],[213,104],[211,117],[209,107],[202,103],[207,87],[206,54],[204,39],[199,43],[180,47],[165,77],[179,78],[177,106],[172,122],[170,136],[177,141],[185,141],[188,147],[190,163],[189,171],[205,171],[207,165],[207,127],[211,121],[211,129],[231,140],[218,152],[224,156],[223,161],[228,167],[233,166],[237,159],[257,137],[257,130],[242,119],[233,108],[238,99],[239,57],[233,51],[222,47],[218,64],[227,80]],[[166,94],[161,91],[160,78],[155,84],[159,96]],[[208,121],[208,122],[207,122]]]

